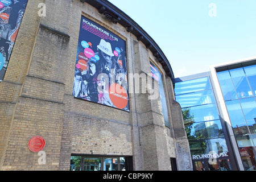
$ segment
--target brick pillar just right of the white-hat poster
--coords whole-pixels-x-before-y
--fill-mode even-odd
[[[146,76],[147,83],[154,81],[150,76],[148,55],[148,50],[134,40],[134,73],[148,75]],[[136,80],[134,80],[134,85],[138,85]],[[158,88],[158,82],[154,85]],[[140,81],[139,87],[142,88],[142,86],[145,86],[145,82]],[[149,93],[135,93],[138,126],[141,131],[143,170],[170,170],[171,162],[168,157],[167,133],[160,97],[150,100],[149,96]]]

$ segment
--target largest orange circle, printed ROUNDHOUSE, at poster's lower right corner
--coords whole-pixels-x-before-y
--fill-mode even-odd
[[[128,103],[127,93],[119,84],[112,84],[109,88],[109,97],[113,105],[118,109],[123,109]]]

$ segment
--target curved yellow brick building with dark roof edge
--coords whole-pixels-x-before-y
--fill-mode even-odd
[[[129,109],[74,97],[81,17],[125,43]],[[166,108],[160,97],[149,99],[152,65],[162,75]],[[28,0],[0,82],[0,169],[191,170],[173,78],[154,40],[112,3]],[[28,148],[36,135],[46,141],[43,153]]]

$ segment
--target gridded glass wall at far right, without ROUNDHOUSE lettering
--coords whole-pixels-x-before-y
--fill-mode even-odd
[[[217,77],[243,166],[246,170],[255,170],[256,65],[217,72]]]

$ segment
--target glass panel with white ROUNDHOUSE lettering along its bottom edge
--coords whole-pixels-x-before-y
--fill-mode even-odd
[[[203,155],[210,151],[216,152],[220,156],[228,156],[228,147],[225,138],[189,140],[192,159],[203,158]]]

